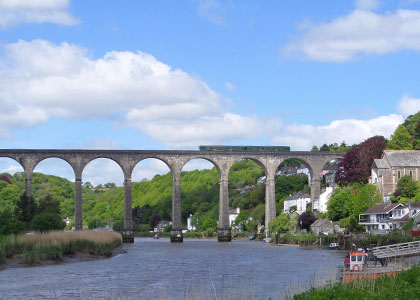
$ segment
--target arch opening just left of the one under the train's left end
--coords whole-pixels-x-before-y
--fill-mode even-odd
[[[168,232],[172,220],[172,172],[158,158],[139,161],[132,174],[132,216],[135,232]]]

